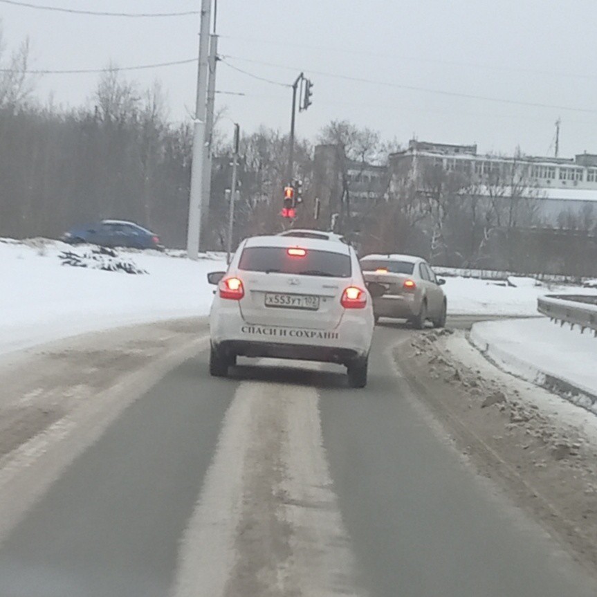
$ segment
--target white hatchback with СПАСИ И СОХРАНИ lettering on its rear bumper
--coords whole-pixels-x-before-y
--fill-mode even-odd
[[[226,376],[237,356],[291,358],[345,365],[351,387],[367,384],[373,304],[351,246],[252,237],[228,271],[212,272],[208,281],[218,285],[210,312],[212,375]]]

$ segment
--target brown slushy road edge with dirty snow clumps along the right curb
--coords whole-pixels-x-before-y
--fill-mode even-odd
[[[394,358],[477,471],[594,569],[597,417],[502,371],[460,330],[416,334]]]

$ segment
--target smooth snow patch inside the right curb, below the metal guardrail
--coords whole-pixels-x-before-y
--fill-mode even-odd
[[[553,376],[597,396],[597,338],[587,331],[548,318],[513,319],[477,323],[470,340],[509,373],[540,385]],[[583,405],[592,402],[587,398]]]

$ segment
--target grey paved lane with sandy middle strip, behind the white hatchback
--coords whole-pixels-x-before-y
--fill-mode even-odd
[[[389,354],[410,333],[376,330],[365,391],[288,362],[213,379],[202,349],[15,526],[0,596],[594,597],[419,405]]]

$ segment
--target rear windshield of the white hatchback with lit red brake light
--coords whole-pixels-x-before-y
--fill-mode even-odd
[[[306,249],[304,255],[288,255],[288,247],[249,247],[243,251],[239,269],[252,272],[348,278],[349,255]]]

